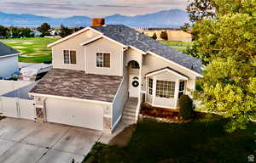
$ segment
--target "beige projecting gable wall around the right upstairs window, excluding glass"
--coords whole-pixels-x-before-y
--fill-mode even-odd
[[[86,73],[123,76],[123,48],[119,44],[102,38],[84,46],[84,49]],[[110,68],[96,67],[96,53],[110,53]]]

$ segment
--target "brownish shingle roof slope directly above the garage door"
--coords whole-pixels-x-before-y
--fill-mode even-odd
[[[122,79],[85,74],[83,70],[52,69],[30,93],[113,102]]]

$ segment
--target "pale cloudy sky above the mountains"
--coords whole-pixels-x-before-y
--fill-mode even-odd
[[[172,8],[185,9],[188,0],[1,0],[0,11],[38,14],[55,18],[84,15],[91,18],[112,14],[150,14]]]

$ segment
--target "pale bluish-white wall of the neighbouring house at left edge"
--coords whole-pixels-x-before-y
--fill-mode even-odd
[[[7,78],[19,71],[18,55],[0,58],[0,77]]]

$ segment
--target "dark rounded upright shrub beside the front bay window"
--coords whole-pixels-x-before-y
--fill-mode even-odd
[[[182,95],[178,99],[178,104],[180,106],[179,115],[182,116],[183,119],[189,120],[194,116],[193,101],[188,95]]]

